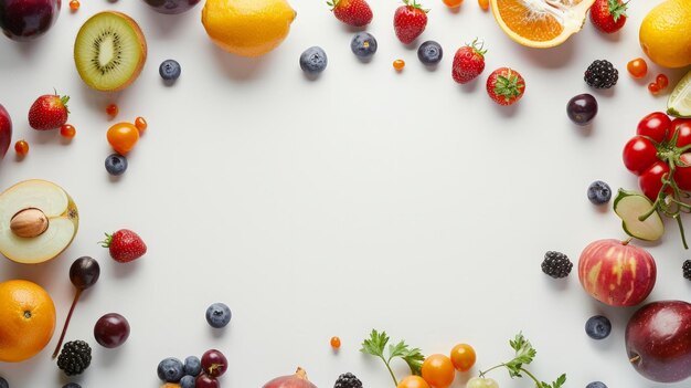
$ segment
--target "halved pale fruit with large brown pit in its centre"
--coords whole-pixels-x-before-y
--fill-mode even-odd
[[[78,226],[77,207],[53,182],[25,180],[0,195],[0,253],[18,263],[55,258],[72,243]]]

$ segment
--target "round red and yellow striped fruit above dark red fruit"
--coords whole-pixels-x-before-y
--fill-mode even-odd
[[[628,241],[592,242],[578,260],[583,289],[610,306],[635,306],[642,302],[652,291],[656,275],[652,255]]]

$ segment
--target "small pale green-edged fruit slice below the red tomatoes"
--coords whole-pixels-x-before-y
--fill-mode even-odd
[[[657,211],[652,211],[652,202],[648,197],[619,189],[614,200],[614,212],[621,219],[626,234],[645,241],[659,240],[665,234],[665,224]],[[641,220],[645,214],[648,218]]]

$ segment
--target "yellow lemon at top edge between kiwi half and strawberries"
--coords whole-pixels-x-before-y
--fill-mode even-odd
[[[206,0],[202,24],[223,50],[259,56],[286,39],[296,15],[286,0]]]

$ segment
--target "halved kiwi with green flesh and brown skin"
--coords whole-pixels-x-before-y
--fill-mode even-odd
[[[129,86],[147,60],[147,41],[130,17],[115,11],[96,13],[77,33],[74,62],[84,82],[105,92]]]

